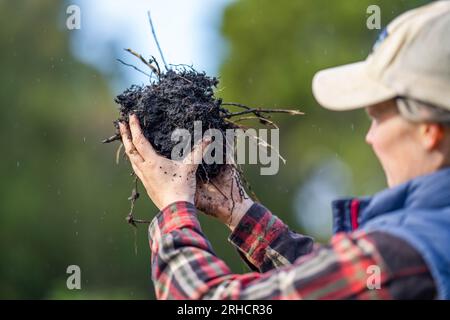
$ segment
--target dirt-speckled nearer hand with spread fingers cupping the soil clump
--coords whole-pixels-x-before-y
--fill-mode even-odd
[[[201,163],[198,159],[202,158],[210,138],[200,141],[183,161],[173,161],[156,153],[142,134],[135,115],[130,116],[129,123],[129,128],[126,123],[119,123],[122,143],[150,199],[160,210],[176,201],[194,203],[195,173]]]

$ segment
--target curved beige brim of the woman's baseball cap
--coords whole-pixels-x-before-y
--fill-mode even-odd
[[[367,76],[365,61],[325,69],[313,79],[314,96],[330,110],[352,110],[374,105],[396,93]]]

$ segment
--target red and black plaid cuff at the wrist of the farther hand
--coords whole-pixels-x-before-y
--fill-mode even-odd
[[[284,232],[286,225],[259,203],[254,203],[229,237],[257,268],[264,263],[266,250]]]

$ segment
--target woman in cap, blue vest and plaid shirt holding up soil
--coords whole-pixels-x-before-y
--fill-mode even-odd
[[[450,299],[450,2],[407,12],[364,62],[319,72],[314,94],[333,110],[366,108],[366,136],[389,188],[332,203],[334,236],[315,245],[249,197],[231,168],[198,185],[204,140],[183,162],[159,156],[130,117],[125,150],[161,212],[149,228],[160,299]],[[167,174],[173,179],[167,179]],[[233,188],[231,186],[233,185]],[[254,270],[232,274],[201,232],[196,208],[232,230]]]

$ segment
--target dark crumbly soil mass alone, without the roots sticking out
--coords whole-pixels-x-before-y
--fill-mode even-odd
[[[194,140],[194,121],[201,121],[202,136],[210,128],[226,129],[236,126],[226,121],[230,115],[214,97],[219,81],[193,69],[168,70],[147,86],[132,86],[115,101],[119,107],[119,121],[128,121],[130,114],[138,116],[145,137],[161,155],[170,158],[178,143],[171,140],[176,129],[187,129]],[[115,122],[116,128],[118,127]],[[222,163],[224,163],[223,161]],[[197,175],[203,180],[215,177],[221,164],[202,164]]]

